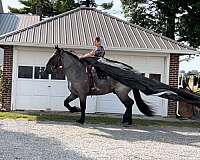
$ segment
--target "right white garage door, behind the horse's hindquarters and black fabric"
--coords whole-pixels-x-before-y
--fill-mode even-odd
[[[139,72],[143,73],[146,77],[157,79],[165,82],[165,58],[164,57],[144,57],[144,56],[121,56],[112,55],[108,56],[114,60],[120,60],[127,63],[137,69]],[[133,97],[133,94],[130,93]],[[154,96],[143,95],[144,100],[150,102],[150,105],[155,108],[157,115],[166,116],[167,114],[167,103],[163,100]],[[109,112],[109,113],[123,113],[125,111],[124,106],[119,101],[116,95],[108,94],[97,97],[97,112]],[[141,114],[137,106],[133,106],[133,114]]]

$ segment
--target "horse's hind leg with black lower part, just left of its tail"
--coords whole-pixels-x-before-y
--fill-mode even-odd
[[[120,99],[120,101],[124,104],[126,107],[126,111],[123,115],[122,123],[128,123],[129,125],[132,124],[132,106],[134,104],[134,101],[128,96],[129,92],[121,91],[116,93],[117,97]]]

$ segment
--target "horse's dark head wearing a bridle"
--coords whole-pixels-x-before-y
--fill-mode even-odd
[[[64,50],[59,48],[58,46],[55,47],[56,51],[53,56],[49,59],[46,64],[45,71],[48,74],[55,72],[58,68],[63,67],[63,52]]]

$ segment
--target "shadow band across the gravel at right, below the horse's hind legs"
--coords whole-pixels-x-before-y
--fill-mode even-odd
[[[169,144],[189,145],[200,148],[200,129],[191,128],[116,128],[116,127],[91,127],[102,134],[91,135],[105,137],[114,140],[135,141],[156,141]]]

